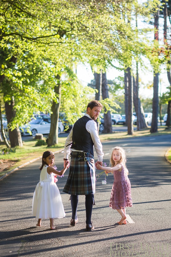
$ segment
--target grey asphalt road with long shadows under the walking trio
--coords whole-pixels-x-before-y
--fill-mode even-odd
[[[66,217],[55,219],[51,231],[49,220],[36,227],[31,216],[32,197],[39,182],[38,160],[0,180],[0,257],[77,257],[77,256],[171,256],[171,165],[165,153],[171,146],[171,135],[110,140],[103,143],[104,162],[109,164],[110,149],[122,146],[127,152],[127,167],[132,185],[133,207],[127,208],[130,221],[119,226],[120,215],[109,208],[113,175],[104,175],[96,183],[92,221],[95,230],[85,231],[85,197],[79,197],[78,219],[69,226],[69,195],[62,193],[69,170],[58,178]],[[63,155],[55,155],[62,169]],[[96,155],[95,155],[96,159]],[[100,171],[96,171],[99,174]]]

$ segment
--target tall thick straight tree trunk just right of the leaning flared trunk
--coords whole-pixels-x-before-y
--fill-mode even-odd
[[[155,13],[155,40],[159,41],[159,8],[158,12]],[[154,73],[153,80],[153,116],[151,121],[150,132],[154,133],[158,131],[158,112],[159,112],[159,73]]]

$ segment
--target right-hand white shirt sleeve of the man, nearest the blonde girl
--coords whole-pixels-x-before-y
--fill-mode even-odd
[[[95,151],[98,157],[98,161],[103,161],[103,150],[102,144],[99,139],[98,130],[97,130],[97,123],[93,120],[90,120],[86,123],[86,130],[90,133],[91,138],[94,143]]]

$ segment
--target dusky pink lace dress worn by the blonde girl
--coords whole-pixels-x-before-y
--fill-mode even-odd
[[[122,165],[122,170],[115,170],[113,172],[113,176],[114,183],[110,196],[109,207],[114,210],[132,207],[131,183],[127,176],[127,168],[124,168]]]

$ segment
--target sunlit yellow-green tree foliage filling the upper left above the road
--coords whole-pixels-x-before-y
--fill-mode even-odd
[[[151,45],[147,30],[137,29],[130,17],[146,15],[149,19],[158,4],[0,0],[0,92],[5,102],[15,99],[11,129],[28,122],[33,112],[50,112],[52,100],[59,101],[54,93],[57,75],[62,77],[61,112],[73,124],[95,96],[92,88],[80,85],[73,67],[80,61],[90,62],[97,71],[115,60],[123,69],[131,65],[132,58],[142,63],[141,55]],[[156,52],[151,57],[151,63],[155,62],[159,62]],[[119,90],[119,82],[110,85],[112,94],[114,88]],[[113,96],[103,102],[107,110],[119,108]]]

